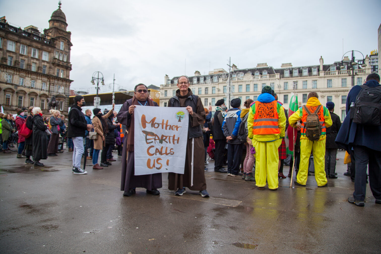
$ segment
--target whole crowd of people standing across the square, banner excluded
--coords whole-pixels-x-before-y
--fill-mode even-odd
[[[247,99],[242,110],[239,98],[231,100],[230,109],[227,109],[224,99],[218,100],[212,117],[211,106],[204,108],[199,96],[193,94],[189,88],[189,79],[186,76],[179,77],[179,89],[168,101],[168,107],[185,107],[189,112],[186,158],[184,174],[168,173],[168,189],[181,196],[188,188],[199,191],[203,197],[209,197],[204,174],[208,170],[205,166],[208,164],[208,155],[215,161],[215,172],[227,173],[227,176],[232,177],[241,176],[245,181],[255,182],[259,190],[264,190],[266,185],[269,190],[278,189],[279,178],[287,177],[283,174],[287,158],[290,159],[288,177],[292,177],[295,169],[294,184],[306,186],[313,161],[317,187],[327,187],[327,178],[337,178],[336,154],[341,148],[351,157],[348,171],[344,175],[351,176],[355,183],[353,196],[348,198],[349,203],[364,206],[369,164],[370,188],[376,198],[375,202],[380,204],[379,81],[379,75],[372,73],[368,75],[364,85],[351,89],[346,103],[347,116],[342,119],[342,124],[340,118],[333,113],[335,104],[327,102],[323,106],[316,92],[310,92],[306,104],[296,107],[296,112],[288,116],[270,86],[262,89],[257,101]],[[361,104],[362,102],[364,103]],[[73,152],[73,173],[86,174],[80,166],[83,154],[92,160],[93,169],[102,169],[111,165],[110,161],[114,160],[111,151],[116,144],[118,155],[122,156],[123,195],[133,195],[137,187],[145,188],[152,195],[160,194],[157,189],[162,187],[161,173],[134,174],[134,108],[136,105],[158,107],[150,99],[147,86],[136,85],[134,96],[122,105],[118,113],[114,111],[114,105],[111,110],[101,112],[101,109],[95,108],[92,112],[86,110],[83,113],[81,107],[85,104],[83,96],[74,97],[67,125],[58,110],[51,110],[50,118],[45,120],[39,107],[17,109],[18,115],[14,120],[10,114],[1,114],[3,152],[9,153],[8,139],[16,130],[22,132],[23,125],[26,125],[32,131],[28,137],[19,137],[18,158],[26,157],[25,163],[43,166],[40,160],[57,156],[62,151],[62,142],[59,139],[65,136],[69,151]],[[376,110],[369,112],[367,107]],[[91,119],[92,113],[94,117]],[[286,153],[285,133],[288,130],[295,135],[292,139],[295,141],[292,155]],[[192,156],[205,160],[192,160]]]

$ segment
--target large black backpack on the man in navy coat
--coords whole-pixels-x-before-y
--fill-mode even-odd
[[[350,117],[354,123],[381,125],[381,86],[361,85],[355,105],[351,105]]]

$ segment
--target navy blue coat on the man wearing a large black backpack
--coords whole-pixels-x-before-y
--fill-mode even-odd
[[[369,87],[379,86],[376,80],[369,80],[365,83]],[[350,117],[349,107],[355,101],[357,94],[361,91],[360,86],[354,86],[349,91],[346,103],[347,115],[341,125],[336,137],[336,144],[347,152],[352,150],[354,145],[363,145],[373,150],[381,151],[381,125],[365,126],[353,123]]]

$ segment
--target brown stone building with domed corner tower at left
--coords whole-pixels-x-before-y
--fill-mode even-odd
[[[70,42],[61,3],[40,32],[35,26],[11,26],[0,18],[0,104],[4,112],[16,108],[50,108],[67,116],[70,93]],[[55,104],[54,104],[55,100]]]

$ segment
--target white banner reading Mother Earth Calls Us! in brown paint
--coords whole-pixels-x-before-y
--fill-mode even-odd
[[[184,174],[189,113],[182,107],[136,106],[135,175]]]

